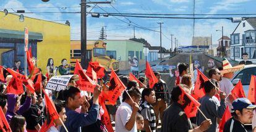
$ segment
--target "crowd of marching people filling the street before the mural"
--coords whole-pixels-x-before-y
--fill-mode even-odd
[[[62,60],[62,66],[66,66],[66,60]],[[66,72],[60,66],[60,72]],[[212,68],[208,71],[209,79],[203,81],[200,71],[198,79],[193,79],[189,74],[189,64],[180,63],[178,66],[179,76],[173,88],[161,79],[160,72],[153,72],[157,81],[150,87],[150,79],[138,77],[132,80],[128,76],[119,76],[122,85],[126,90],[122,91],[116,104],[108,103],[106,100],[105,111],[101,105],[101,93],[109,91],[111,80],[98,80],[98,84],[92,93],[80,90],[77,79],[70,79],[65,90],[58,92],[43,92],[35,90],[35,93],[28,88],[20,95],[7,93],[6,86],[12,80],[12,76],[4,74],[5,82],[1,85],[0,106],[12,131],[111,131],[106,124],[107,112],[110,123],[115,123],[115,131],[247,131],[245,124],[252,123],[252,129],[256,131],[255,115],[256,106],[247,98],[230,99],[230,93],[234,86],[230,82],[233,73],[242,68],[233,68],[228,60],[223,61],[222,68]],[[18,69],[19,70],[19,69]],[[15,70],[17,71],[17,69]],[[48,71],[53,71],[53,60],[48,61]],[[22,73],[22,72],[20,72]],[[137,73],[136,73],[137,74]],[[50,76],[54,76],[51,74]],[[35,76],[34,83],[38,75]],[[109,78],[109,77],[108,77]],[[197,82],[194,82],[196,80]],[[45,88],[48,77],[41,75],[41,84]],[[195,116],[188,117],[187,106],[191,100],[188,96],[194,97],[195,85],[198,81],[200,88],[203,88],[204,95],[198,99],[199,107]],[[181,89],[182,88],[182,89]],[[186,95],[186,98],[184,97]],[[53,113],[49,112],[49,104],[44,98],[51,98],[54,109],[58,112],[59,118],[50,123]],[[228,106],[228,107],[227,107]],[[223,116],[226,111],[231,112],[231,117],[224,122]],[[1,117],[1,120],[3,117]],[[222,118],[222,119],[221,119]],[[256,120],[256,119],[255,119]],[[45,124],[52,124],[45,127]],[[0,131],[7,130],[1,125]]]

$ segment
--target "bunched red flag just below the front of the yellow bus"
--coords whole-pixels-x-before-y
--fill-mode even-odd
[[[97,61],[90,62],[86,71],[86,74],[92,78],[92,69],[96,72],[98,79],[105,76],[105,68],[101,66]]]

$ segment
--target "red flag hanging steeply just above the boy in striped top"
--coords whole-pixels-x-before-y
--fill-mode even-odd
[[[153,70],[151,69],[150,64],[148,63],[148,61],[146,62],[145,75],[149,79],[148,82],[149,82],[150,88],[153,88],[155,83],[158,83],[158,79],[156,78],[156,76],[155,76]]]

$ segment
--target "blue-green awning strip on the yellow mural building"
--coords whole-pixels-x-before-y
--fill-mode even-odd
[[[7,39],[24,39],[24,32],[23,31],[15,31],[9,29],[0,29],[0,38],[7,38]],[[43,34],[29,32],[28,39],[43,41]]]

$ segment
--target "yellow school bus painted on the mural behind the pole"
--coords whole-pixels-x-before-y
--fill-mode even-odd
[[[119,72],[119,62],[113,56],[106,55],[106,42],[104,41],[87,41],[87,61],[97,61],[104,66],[106,72],[110,72],[111,68],[115,72]],[[81,42],[70,42],[70,63],[74,66],[76,60],[81,60]]]

